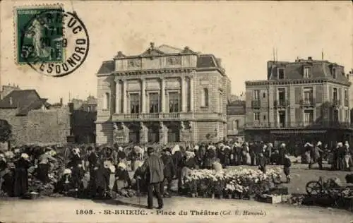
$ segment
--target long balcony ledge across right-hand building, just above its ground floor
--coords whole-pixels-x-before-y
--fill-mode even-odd
[[[343,121],[296,121],[285,123],[246,123],[245,128],[353,128],[353,124]]]

